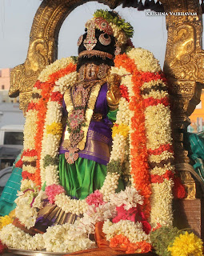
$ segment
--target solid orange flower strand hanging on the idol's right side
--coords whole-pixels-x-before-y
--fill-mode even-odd
[[[148,154],[146,150],[146,128],[144,104],[141,95],[140,87],[142,82],[138,82],[142,78],[142,72],[139,72],[134,60],[127,57],[126,54],[118,55],[115,58],[115,66],[122,66],[129,71],[134,83],[134,96],[130,97],[130,110],[134,111],[134,117],[131,119],[131,129],[134,130],[131,136],[132,148],[130,154],[131,160],[131,175],[134,178],[135,188],[144,196],[144,204],[142,211],[146,214],[146,218],[150,216],[150,174],[148,166]]]

